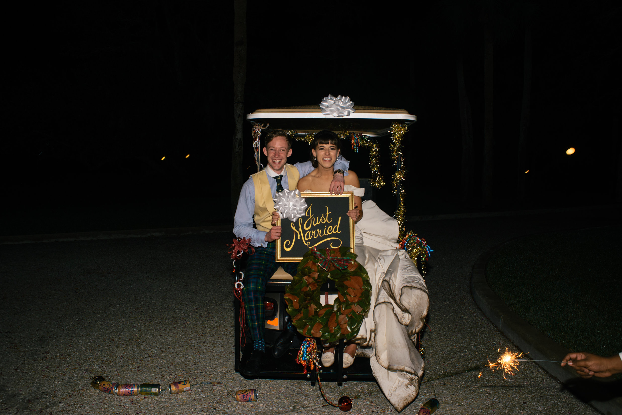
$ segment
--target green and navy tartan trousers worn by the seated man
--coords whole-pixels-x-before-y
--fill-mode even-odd
[[[255,253],[249,255],[246,262],[246,275],[244,276],[244,289],[242,297],[246,308],[246,321],[251,331],[253,340],[264,338],[264,294],[266,283],[272,274],[283,267],[285,272],[292,275],[296,273],[297,262],[276,262],[276,242],[269,242],[267,247],[256,247]]]

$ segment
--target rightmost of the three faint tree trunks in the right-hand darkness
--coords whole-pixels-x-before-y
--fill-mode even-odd
[[[527,25],[525,29],[525,58],[522,79],[522,109],[521,109],[521,130],[518,136],[518,163],[516,174],[516,191],[519,203],[525,202],[525,171],[529,170],[527,165],[527,134],[529,134],[529,111],[531,104],[531,27]]]

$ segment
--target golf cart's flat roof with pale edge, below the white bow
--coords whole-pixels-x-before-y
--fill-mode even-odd
[[[247,114],[246,120],[270,124],[270,129],[284,129],[298,134],[321,130],[349,131],[371,136],[389,134],[393,122],[408,125],[417,121],[405,109],[354,106],[349,116],[333,117],[322,114],[319,106],[281,107],[258,109]]]

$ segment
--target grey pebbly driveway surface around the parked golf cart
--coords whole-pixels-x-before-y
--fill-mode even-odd
[[[620,223],[613,211],[415,222],[434,254],[426,281],[429,327],[420,396],[437,414],[596,414],[535,363],[504,380],[485,369],[516,350],[481,313],[470,271],[486,248],[512,237]],[[231,234],[0,246],[0,409],[6,414],[338,414],[305,381],[245,380],[233,370]],[[478,376],[481,373],[481,378]],[[112,396],[118,383],[189,379],[192,391]],[[208,384],[211,382],[213,384]],[[231,391],[259,390],[254,403]],[[325,383],[355,398],[351,414],[395,412],[374,382]]]

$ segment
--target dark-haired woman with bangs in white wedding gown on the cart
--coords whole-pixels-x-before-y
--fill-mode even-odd
[[[301,193],[328,191],[340,150],[340,139],[334,132],[315,134],[310,150],[315,170],[298,181]],[[348,216],[355,221],[357,260],[369,274],[372,291],[363,324],[345,347],[343,367],[349,367],[357,355],[368,357],[385,396],[401,411],[417,397],[424,372],[415,340],[427,316],[428,291],[411,258],[397,247],[396,219],[371,200],[361,203],[364,189],[359,187],[354,171],[348,170],[344,179],[343,191],[354,193],[354,209],[348,211]],[[332,304],[333,299],[329,301]],[[324,366],[335,362],[332,346],[324,345]]]

